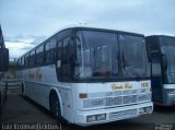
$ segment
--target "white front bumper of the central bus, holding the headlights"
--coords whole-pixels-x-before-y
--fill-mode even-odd
[[[74,123],[78,126],[92,126],[97,123],[105,123],[121,119],[129,119],[133,117],[138,117],[143,114],[152,114],[153,111],[153,104],[143,103],[138,105],[131,106],[124,106],[124,107],[115,107],[115,108],[106,108],[106,109],[95,109],[95,110],[74,110]],[[95,116],[95,115],[105,115],[105,119],[90,121],[88,117]],[[95,117],[94,117],[95,118]]]

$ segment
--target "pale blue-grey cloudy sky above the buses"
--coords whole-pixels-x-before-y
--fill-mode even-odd
[[[62,27],[175,35],[175,0],[0,0],[10,57],[18,58]],[[8,42],[10,40],[10,42]]]

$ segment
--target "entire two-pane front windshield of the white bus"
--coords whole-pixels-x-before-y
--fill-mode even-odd
[[[120,39],[118,40],[119,35],[116,33],[95,31],[79,31],[77,36],[75,79],[116,79],[121,75],[126,78],[145,75],[145,44],[142,44],[142,37],[125,35],[126,42],[120,42]],[[120,55],[121,51],[124,56]],[[125,68],[119,63],[121,57],[125,57]]]

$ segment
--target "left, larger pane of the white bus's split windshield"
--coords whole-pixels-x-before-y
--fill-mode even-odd
[[[116,78],[118,75],[116,34],[82,31],[78,33],[78,37],[74,76],[78,79]]]

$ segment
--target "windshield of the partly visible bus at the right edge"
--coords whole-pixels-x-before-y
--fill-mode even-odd
[[[175,73],[175,38],[161,37],[161,49],[166,55],[167,71]]]

